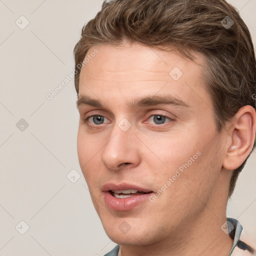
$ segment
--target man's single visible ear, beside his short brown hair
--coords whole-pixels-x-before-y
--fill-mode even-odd
[[[228,130],[230,139],[225,149],[223,168],[233,170],[243,163],[252,149],[255,128],[255,109],[249,105],[241,107],[234,115],[231,128]]]

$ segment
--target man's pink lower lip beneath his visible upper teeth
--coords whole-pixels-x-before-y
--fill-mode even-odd
[[[126,198],[117,198],[111,195],[109,191],[105,193],[105,202],[107,206],[113,210],[130,210],[137,205],[145,202],[146,200],[149,201],[149,197],[153,192],[134,195]]]

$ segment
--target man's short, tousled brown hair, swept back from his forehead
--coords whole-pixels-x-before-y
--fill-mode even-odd
[[[77,93],[77,65],[88,49],[97,44],[120,45],[124,40],[161,50],[174,46],[189,59],[193,59],[191,49],[202,53],[206,57],[203,78],[218,132],[242,106],[255,109],[256,61],[251,35],[238,11],[225,0],[104,1],[95,18],[83,26],[74,47]],[[254,147],[255,142],[252,150]],[[233,170],[228,196],[247,158]]]

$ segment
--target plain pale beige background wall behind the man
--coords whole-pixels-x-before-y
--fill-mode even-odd
[[[256,45],[256,0],[229,2],[240,10]],[[101,3],[0,0],[2,256],[103,255],[114,246],[93,208],[78,164],[73,79],[51,100],[46,98],[71,73],[80,29]],[[22,120],[16,126],[21,118],[28,127]],[[255,163],[253,152],[227,209],[254,241]],[[74,183],[67,178],[72,169],[76,170],[70,174],[72,181],[80,174]],[[20,221],[29,226],[27,231]]]

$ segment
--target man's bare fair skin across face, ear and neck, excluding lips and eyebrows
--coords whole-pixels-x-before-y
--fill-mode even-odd
[[[81,69],[78,99],[87,95],[104,107],[78,104],[79,163],[106,234],[127,255],[228,255],[233,240],[220,226],[226,220],[231,170],[250,152],[255,110],[241,108],[217,132],[212,100],[203,83],[205,59],[195,62],[175,51],[137,43],[96,45],[99,53]],[[169,72],[183,75],[174,80]],[[131,108],[127,102],[171,94],[188,107],[158,104]],[[92,115],[104,116],[103,123]],[[163,123],[155,116],[166,115]],[[88,118],[89,117],[89,118]],[[127,131],[118,123],[126,118]],[[91,127],[89,126],[91,125]],[[153,202],[127,211],[110,209],[102,185],[122,181],[157,192],[191,156],[201,154]],[[126,221],[130,230],[118,226]]]

